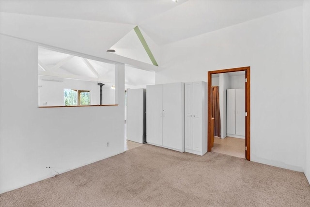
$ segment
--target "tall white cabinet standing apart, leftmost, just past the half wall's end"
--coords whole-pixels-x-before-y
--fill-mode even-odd
[[[127,140],[146,143],[146,89],[127,89]]]

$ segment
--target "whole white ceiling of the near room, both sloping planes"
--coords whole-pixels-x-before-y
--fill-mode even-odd
[[[302,0],[1,0],[0,11],[138,25],[163,45],[302,4]]]

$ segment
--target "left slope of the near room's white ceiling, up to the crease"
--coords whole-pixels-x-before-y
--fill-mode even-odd
[[[1,0],[1,12],[139,25],[177,3],[171,0]]]

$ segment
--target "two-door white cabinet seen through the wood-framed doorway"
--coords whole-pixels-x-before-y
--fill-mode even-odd
[[[227,89],[226,91],[226,131],[227,136],[245,138],[246,135],[246,93],[245,89]]]

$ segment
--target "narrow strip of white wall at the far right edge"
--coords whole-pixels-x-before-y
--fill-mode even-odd
[[[306,161],[305,161],[305,175],[308,178],[310,183],[310,133],[309,133],[309,126],[310,126],[310,1],[304,0],[303,4],[303,44],[304,44],[304,88],[305,88],[305,138],[306,138]]]

